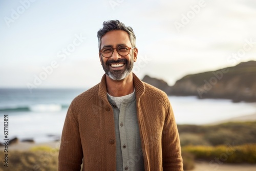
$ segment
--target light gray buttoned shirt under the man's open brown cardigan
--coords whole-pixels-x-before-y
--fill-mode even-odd
[[[132,94],[121,97],[113,97],[108,94],[108,100],[114,111],[116,169],[118,171],[144,170],[135,90]]]

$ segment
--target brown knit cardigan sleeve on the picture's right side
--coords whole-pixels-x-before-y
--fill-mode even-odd
[[[162,155],[163,170],[183,171],[179,133],[169,102],[162,132]]]

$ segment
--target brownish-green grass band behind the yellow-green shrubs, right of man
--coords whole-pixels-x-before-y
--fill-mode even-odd
[[[218,125],[178,125],[181,145],[242,145],[256,143],[256,122],[228,122]]]

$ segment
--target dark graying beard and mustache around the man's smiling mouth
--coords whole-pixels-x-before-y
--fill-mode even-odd
[[[103,62],[102,56],[101,56],[101,61],[102,61],[102,68],[105,71],[106,75],[108,75],[111,79],[113,80],[122,80],[124,79],[127,75],[129,75],[132,72],[134,61],[133,58],[131,57],[130,62],[127,61],[127,59],[122,58],[118,60],[107,60],[106,63]],[[124,69],[122,70],[112,70],[111,64],[112,63],[124,63]]]

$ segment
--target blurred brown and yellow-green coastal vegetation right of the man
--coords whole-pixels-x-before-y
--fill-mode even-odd
[[[217,167],[222,163],[256,163],[256,122],[227,122],[216,125],[178,125],[184,169],[195,160]]]

